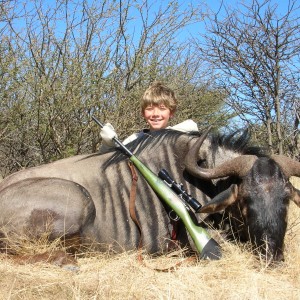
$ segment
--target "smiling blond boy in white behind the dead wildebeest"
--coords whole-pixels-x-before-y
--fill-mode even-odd
[[[156,131],[164,128],[174,129],[183,132],[198,131],[197,124],[192,120],[186,120],[175,126],[168,126],[169,120],[174,116],[177,108],[177,99],[175,93],[170,88],[164,86],[161,82],[154,82],[144,93],[141,100],[142,116],[149,125],[149,129],[144,129],[127,137],[123,144],[135,140],[146,132]],[[101,129],[100,135],[103,145],[100,152],[106,152],[114,147],[112,140],[117,136],[113,126],[106,123]]]

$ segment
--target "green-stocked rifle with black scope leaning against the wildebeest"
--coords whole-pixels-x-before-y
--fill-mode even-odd
[[[103,128],[104,124],[102,124],[97,118],[92,116],[92,119],[101,128]],[[124,150],[125,154],[129,157],[129,160],[140,171],[140,173],[146,179],[151,188],[160,197],[160,199],[163,200],[183,221],[186,229],[188,230],[195,243],[195,246],[200,254],[200,258],[212,260],[221,258],[222,255],[220,245],[209,236],[204,228],[194,224],[190,216],[189,209],[187,209],[188,202],[185,202],[183,199],[188,196],[190,198],[190,203],[192,203],[192,206],[194,204],[196,205],[194,208],[195,210],[199,210],[201,208],[200,203],[198,203],[196,199],[190,197],[184,190],[182,190],[182,188],[180,188],[178,184],[176,184],[170,178],[165,170],[160,172],[160,175],[163,177],[163,179],[161,179],[160,177],[155,175],[149,168],[147,168],[118,138],[114,137],[113,140]],[[166,176],[166,174],[168,176]],[[172,186],[173,188],[175,186],[175,191],[177,190],[177,192],[172,189]],[[184,194],[184,197],[180,197],[178,194]]]

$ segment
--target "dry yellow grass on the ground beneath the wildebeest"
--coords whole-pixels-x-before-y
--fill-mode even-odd
[[[187,263],[180,256],[144,256],[140,264],[136,252],[87,254],[78,258],[77,272],[46,263],[18,265],[3,255],[0,299],[299,300],[300,210],[294,203],[285,244],[285,262],[277,267],[267,266],[246,246],[228,242],[222,244],[220,261]],[[154,269],[180,261],[175,271]]]

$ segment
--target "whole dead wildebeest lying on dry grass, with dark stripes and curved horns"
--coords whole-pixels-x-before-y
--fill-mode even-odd
[[[300,176],[300,163],[264,156],[248,146],[247,134],[208,137],[163,130],[133,141],[128,148],[154,173],[165,168],[203,204],[197,217],[232,216],[231,231],[251,241],[274,260],[283,259],[289,200],[300,206],[300,191],[289,182]],[[50,239],[79,236],[99,251],[133,250],[140,232],[129,212],[132,177],[120,150],[79,155],[21,170],[0,184],[2,248],[9,236]],[[168,208],[139,176],[135,202],[143,247],[167,250],[172,226]],[[199,218],[200,220],[200,218]],[[180,224],[179,224],[180,225]],[[181,226],[181,227],[180,227]],[[177,239],[193,248],[182,224]]]

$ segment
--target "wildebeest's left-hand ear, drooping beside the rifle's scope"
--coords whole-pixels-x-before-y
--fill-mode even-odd
[[[238,186],[232,184],[227,190],[221,192],[211,199],[207,204],[202,206],[200,213],[214,213],[225,209],[237,200]]]

